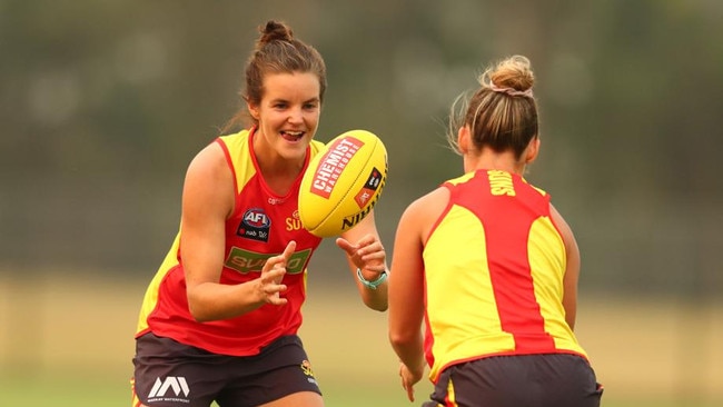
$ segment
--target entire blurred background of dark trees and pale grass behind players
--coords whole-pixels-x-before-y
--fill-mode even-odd
[[[723,403],[723,2],[0,0],[0,405],[129,403],[186,167],[241,107],[268,19],[325,57],[317,139],[386,143],[387,247],[406,205],[462,170],[454,99],[527,56],[543,140],[527,179],[578,239],[576,331],[604,405]],[[327,405],[406,406],[385,315],[350,278],[325,242],[303,336]]]

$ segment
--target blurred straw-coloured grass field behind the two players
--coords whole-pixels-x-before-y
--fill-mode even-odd
[[[0,406],[127,406],[145,281],[0,274]],[[611,407],[723,405],[723,305],[583,294],[576,328]],[[409,404],[386,315],[354,288],[310,288],[301,330],[327,406]]]

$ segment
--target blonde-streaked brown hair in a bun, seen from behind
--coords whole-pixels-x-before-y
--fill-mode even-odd
[[[478,78],[479,88],[466,99],[455,100],[449,115],[447,140],[457,152],[457,130],[469,126],[476,149],[513,150],[519,159],[538,135],[537,103],[532,93],[535,82],[529,60],[513,56],[487,68]],[[460,106],[462,102],[462,106]]]

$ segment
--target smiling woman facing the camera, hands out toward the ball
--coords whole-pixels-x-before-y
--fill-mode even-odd
[[[180,231],[138,321],[133,406],[323,406],[297,336],[306,267],[320,239],[300,227],[298,189],[326,68],[283,22],[260,29],[246,68],[251,126],[191,161]],[[365,305],[386,310],[386,256],[370,212],[337,238]]]

